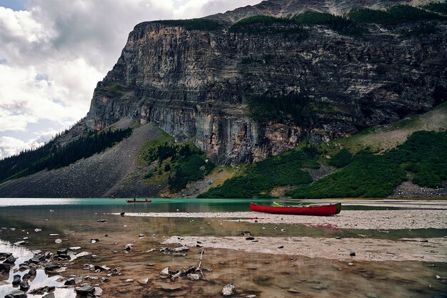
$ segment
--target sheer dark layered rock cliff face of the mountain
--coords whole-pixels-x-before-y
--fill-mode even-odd
[[[155,123],[179,140],[195,138],[228,165],[290,150],[307,136],[358,133],[445,101],[446,22],[433,24],[436,33],[416,36],[403,34],[413,24],[363,26],[369,33],[362,37],[310,26],[303,40],[139,24],[98,83],[86,124],[101,129],[127,116]],[[247,103],[253,96],[290,93],[311,101],[306,123],[252,120]]]

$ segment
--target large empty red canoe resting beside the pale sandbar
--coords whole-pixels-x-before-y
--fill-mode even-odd
[[[337,214],[338,204],[328,204],[319,206],[284,206],[274,207],[266,205],[258,205],[254,202],[250,203],[251,211],[284,214],[284,215],[318,215],[318,216],[330,216]]]

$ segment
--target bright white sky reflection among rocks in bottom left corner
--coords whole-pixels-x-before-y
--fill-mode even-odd
[[[16,262],[14,262],[14,264],[11,265],[11,271],[9,273],[0,274],[0,280],[2,281],[0,282],[0,297],[4,297],[9,292],[14,291],[15,289],[19,289],[17,285],[15,286],[12,285],[14,275],[20,275],[20,278],[22,279],[24,274],[28,272],[28,270],[19,271],[19,264],[31,259],[31,257],[33,257],[34,254],[39,251],[31,251],[28,250],[26,247],[11,245],[10,242],[0,240],[0,252],[9,252],[12,253],[14,257],[16,257]],[[49,277],[48,275],[46,275],[44,269],[37,269],[36,276],[28,280],[30,285],[29,291],[32,291],[33,289],[38,289],[39,287],[49,286],[49,287],[56,287],[54,291],[55,297],[58,298],[76,297],[76,293],[74,292],[73,289],[59,288],[64,286],[62,282],[57,281],[57,279],[59,278],[61,278],[61,276],[59,275]],[[41,297],[41,295],[28,294],[28,297]]]

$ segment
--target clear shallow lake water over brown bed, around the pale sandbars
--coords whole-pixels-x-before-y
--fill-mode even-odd
[[[286,255],[253,254],[238,250],[206,249],[204,272],[206,279],[159,279],[164,267],[179,269],[199,263],[200,247],[191,247],[186,256],[165,255],[160,243],[173,235],[238,236],[251,231],[267,237],[371,237],[398,239],[400,237],[443,237],[447,230],[351,230],[306,225],[253,225],[250,222],[226,221],[221,218],[179,217],[120,217],[112,212],[226,212],[248,211],[251,200],[153,199],[152,203],[128,204],[124,199],[0,199],[0,252],[14,252],[15,257],[29,259],[31,252],[12,247],[9,243],[26,240],[26,247],[56,252],[64,247],[80,246],[80,251],[94,256],[76,260],[69,274],[91,274],[82,265],[106,264],[121,267],[124,275],[101,284],[104,297],[219,297],[225,284],[236,285],[236,297],[257,294],[258,297],[446,297],[446,263],[425,262],[348,262],[341,260],[309,259]],[[256,200],[268,204],[271,200]],[[368,202],[371,203],[371,202]],[[382,202],[383,203],[383,202]],[[396,204],[396,202],[393,202]],[[355,206],[361,206],[355,205]],[[365,207],[370,208],[370,207]],[[379,208],[379,207],[377,207]],[[380,207],[382,208],[382,207]],[[371,210],[371,209],[363,209]],[[373,209],[372,210],[379,210]],[[343,212],[343,210],[342,210]],[[99,223],[97,220],[107,220]],[[264,227],[264,229],[263,229]],[[277,227],[278,229],[274,229]],[[11,228],[13,230],[11,230]],[[36,232],[34,229],[41,229]],[[281,228],[286,229],[281,232]],[[279,231],[278,231],[279,230]],[[50,234],[57,234],[50,236]],[[144,234],[139,238],[139,234]],[[107,235],[107,237],[105,237]],[[154,236],[155,235],[155,236]],[[56,238],[61,244],[54,242]],[[100,242],[91,243],[98,238]],[[134,243],[131,252],[124,252],[127,243]],[[153,252],[147,252],[154,249]],[[318,247],[316,247],[318,250]],[[26,259],[26,260],[28,260]],[[20,261],[21,262],[21,261]],[[19,261],[16,262],[19,264]],[[24,274],[17,273],[17,274]],[[12,279],[10,274],[8,279]],[[101,274],[98,274],[100,277]],[[39,278],[38,278],[39,277]],[[126,284],[125,279],[149,277],[150,286]],[[39,272],[30,283],[31,289],[54,284],[56,279]],[[172,292],[163,287],[175,286]],[[4,287],[4,286],[2,286]],[[0,297],[8,290],[0,287]],[[69,290],[73,295],[72,289]],[[1,292],[4,291],[4,292]],[[3,296],[2,296],[3,295]],[[66,296],[64,296],[66,295]],[[56,297],[73,297],[61,293]],[[29,295],[31,297],[31,295]]]

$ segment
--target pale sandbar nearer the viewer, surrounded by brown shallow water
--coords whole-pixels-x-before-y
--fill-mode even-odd
[[[170,237],[164,244],[353,261],[447,262],[447,238],[378,240],[314,237]],[[278,248],[281,247],[281,248]],[[355,256],[350,256],[356,252]]]

